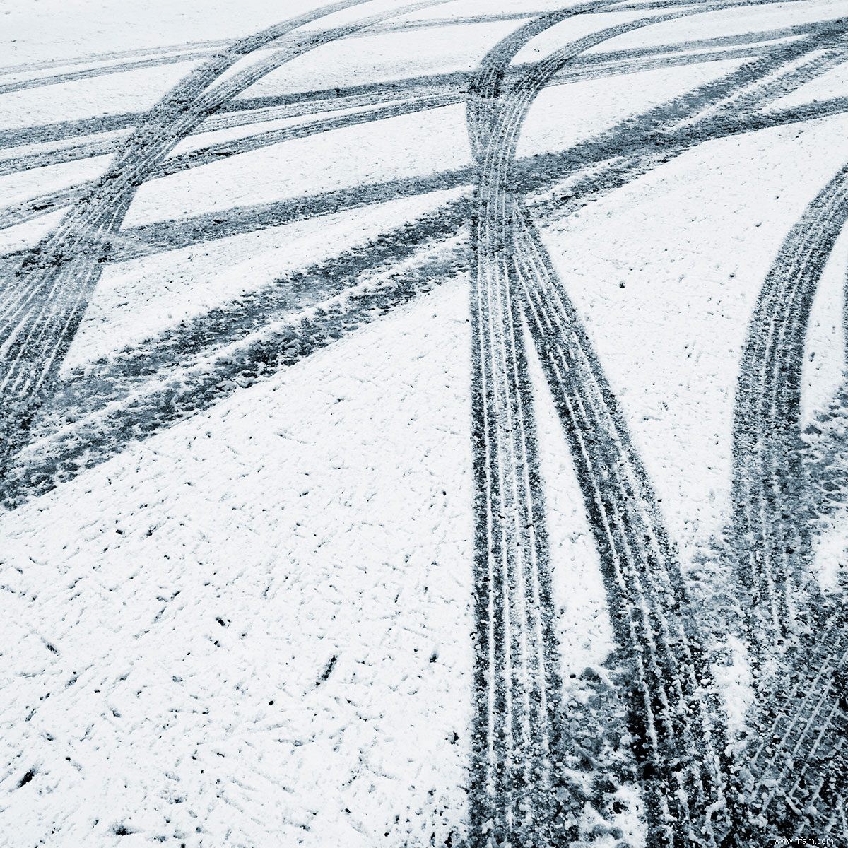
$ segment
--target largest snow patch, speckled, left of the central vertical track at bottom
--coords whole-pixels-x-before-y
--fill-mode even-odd
[[[466,303],[460,283],[427,295],[7,517],[3,783],[36,769],[4,802],[21,839],[461,828]]]

